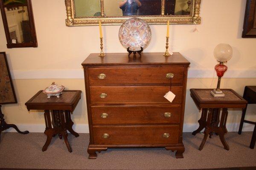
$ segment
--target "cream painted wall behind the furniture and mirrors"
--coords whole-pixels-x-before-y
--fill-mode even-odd
[[[221,4],[221,5],[220,5]],[[241,32],[246,0],[203,0],[202,24],[171,26],[172,51],[179,51],[190,62],[190,70],[212,69],[217,63],[212,51],[220,42],[229,43],[234,50],[228,62],[230,69],[256,69],[256,39],[242,39]],[[97,26],[66,27],[64,0],[32,0],[38,48],[6,48],[6,37],[0,19],[0,51],[6,51],[11,70],[81,70],[81,62],[90,53],[99,52]],[[41,8],[44,6],[44,8]],[[229,8],[227,8],[227,6]],[[47,8],[47,12],[45,9]],[[152,40],[145,52],[163,52],[165,25],[150,25]],[[197,27],[198,32],[193,32]],[[118,40],[119,26],[103,26],[105,52],[125,52]],[[75,112],[77,124],[87,124],[83,79],[15,79],[18,101],[24,103],[37,91],[51,82],[58,82],[68,89],[83,91]],[[185,123],[197,123],[199,113],[189,96],[189,88],[215,88],[216,79],[188,79]],[[223,79],[222,88],[233,88],[240,95],[245,85],[256,85],[256,79]],[[20,111],[17,105],[4,105],[7,122],[16,124],[44,124],[38,111]],[[249,106],[247,118],[256,120],[256,106]],[[230,111],[228,122],[239,122],[240,111]]]

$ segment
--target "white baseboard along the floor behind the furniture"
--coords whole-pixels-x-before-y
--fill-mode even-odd
[[[193,132],[194,130],[196,130],[198,128],[198,124],[184,124],[183,126],[183,132]],[[40,124],[40,125],[17,125],[17,127],[21,130],[29,130],[29,132],[31,133],[43,133],[45,130],[45,125],[44,124]],[[254,125],[251,124],[247,124],[244,123],[243,126],[243,131],[253,131]],[[79,125],[73,125],[73,129],[77,132],[77,133],[89,133],[89,125],[88,124],[79,124]],[[227,131],[229,132],[237,132],[239,129],[239,123],[229,123],[227,124]],[[6,130],[6,132],[16,132],[15,129],[10,128],[8,130]]]

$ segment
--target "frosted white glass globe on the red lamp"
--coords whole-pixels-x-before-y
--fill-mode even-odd
[[[229,44],[218,44],[213,54],[218,62],[227,62],[233,55],[233,49]]]

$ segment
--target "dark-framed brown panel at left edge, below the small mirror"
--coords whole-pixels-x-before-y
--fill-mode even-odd
[[[5,52],[0,52],[0,104],[17,103]]]

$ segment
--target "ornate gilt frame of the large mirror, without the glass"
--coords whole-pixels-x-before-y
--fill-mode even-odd
[[[132,17],[138,17],[145,20],[148,24],[200,24],[201,17],[200,5],[201,0],[191,0],[191,9],[189,15],[164,15],[165,0],[161,0],[161,15],[139,15],[139,16],[118,16],[105,17],[104,0],[100,0],[101,16],[100,17],[76,17],[75,0],[65,0],[67,19],[66,26],[91,26],[99,25],[101,20],[102,25],[121,25],[125,20]]]

